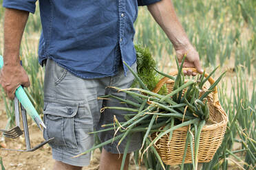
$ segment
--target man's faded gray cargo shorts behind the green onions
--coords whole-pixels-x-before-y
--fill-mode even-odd
[[[131,67],[136,71],[136,64]],[[112,77],[85,80],[48,59],[45,65],[43,108],[43,120],[47,129],[44,130],[43,136],[45,140],[54,137],[54,140],[49,143],[53,158],[78,167],[89,165],[91,154],[72,158],[94,145],[94,134],[88,133],[102,129],[103,124],[113,123],[114,115],[121,122],[125,121],[123,114],[130,113],[109,109],[100,113],[100,108],[104,106],[127,107],[127,105],[121,104],[116,99],[103,101],[97,98],[103,95],[117,95],[127,99],[129,96],[126,93],[118,93],[107,86],[129,88],[133,81],[134,75],[128,71],[125,77],[122,66],[119,67],[118,74]],[[113,131],[98,134],[101,142],[113,136]],[[118,149],[117,143],[118,141],[105,145],[104,149],[113,154],[118,154],[118,150],[123,153],[126,140],[122,141]],[[129,152],[140,147],[141,134],[136,133],[132,136]]]

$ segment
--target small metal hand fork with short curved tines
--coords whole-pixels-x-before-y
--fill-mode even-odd
[[[19,123],[19,101],[17,97],[14,98],[14,109],[16,126],[12,130],[0,130],[6,138],[17,138],[23,134]]]

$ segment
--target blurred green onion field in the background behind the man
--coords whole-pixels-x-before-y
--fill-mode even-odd
[[[213,77],[227,71],[218,86],[218,95],[228,114],[228,128],[215,157],[204,163],[202,169],[256,169],[256,1],[173,0],[173,3],[204,69],[211,71],[220,65],[219,73]],[[3,12],[0,8],[0,55],[3,54]],[[165,73],[175,69],[175,50],[146,7],[139,9],[135,26],[135,43],[149,48],[158,69]],[[25,28],[21,56],[30,75],[28,92],[39,112],[43,108],[43,69],[36,55],[40,32],[37,7]],[[8,125],[12,125],[13,104],[1,96],[10,120]],[[152,161],[156,163],[148,169],[158,166],[156,159]],[[191,169],[191,165],[186,165],[186,169]]]

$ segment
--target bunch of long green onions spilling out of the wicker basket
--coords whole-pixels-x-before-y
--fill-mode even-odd
[[[184,63],[184,58],[182,60],[182,64]],[[121,167],[121,169],[123,169],[125,164],[124,160],[127,155],[127,150],[129,148],[129,136],[131,136],[134,132],[142,132],[143,141],[142,147],[140,149],[140,158],[147,162],[148,156],[151,156],[151,154],[147,154],[147,152],[153,153],[155,158],[160,162],[159,166],[161,166],[162,169],[165,169],[167,166],[164,165],[162,158],[160,157],[160,154],[158,152],[158,145],[160,145],[158,141],[160,140],[160,138],[168,136],[167,147],[170,147],[168,143],[171,142],[174,131],[178,130],[178,128],[181,127],[188,127],[188,130],[186,132],[186,143],[184,143],[184,151],[182,152],[183,158],[182,160],[180,160],[180,162],[177,162],[177,164],[181,164],[181,169],[184,169],[184,163],[188,162],[186,158],[186,153],[188,152],[187,150],[190,148],[189,152],[191,153],[191,160],[189,161],[193,163],[193,169],[197,169],[199,157],[198,149],[200,145],[200,135],[202,127],[206,123],[214,123],[214,120],[211,120],[209,114],[209,102],[211,101],[209,101],[208,96],[210,95],[210,93],[213,92],[213,90],[217,90],[216,85],[218,82],[220,82],[220,80],[224,76],[224,73],[215,82],[211,83],[210,88],[205,90],[203,89],[204,83],[211,78],[211,75],[213,75],[216,69],[213,70],[213,72],[209,75],[203,73],[202,76],[198,77],[197,80],[185,80],[182,73],[182,64],[178,66],[178,75],[176,77],[172,77],[170,75],[157,71],[158,73],[166,76],[167,78],[163,78],[162,80],[160,80],[158,84],[156,84],[157,88],[155,88],[153,91],[151,91],[152,89],[149,89],[149,86],[144,83],[145,80],[143,82],[140,79],[141,76],[134,73],[134,71],[132,71],[132,69],[126,64],[129,70],[138,80],[140,88],[109,88],[114,88],[119,92],[127,93],[136,101],[138,101],[138,103],[134,103],[134,101],[120,99],[120,102],[125,102],[129,104],[131,108],[103,108],[127,110],[130,111],[131,114],[125,115],[125,118],[127,119],[127,121],[125,122],[119,122],[118,119],[114,117],[114,123],[104,125],[104,127],[107,127],[106,129],[92,132],[98,133],[107,130],[116,131],[113,138],[111,138],[109,141],[105,141],[105,143],[96,145],[95,147],[92,147],[91,149],[85,151],[83,154],[86,154],[89,151],[92,151],[98,147],[102,147],[103,145],[107,145],[108,143],[112,143],[116,140],[118,140],[118,145],[120,145],[124,138],[128,138]],[[167,95],[158,94],[158,90],[160,89],[160,87],[158,87],[159,84],[161,84],[162,86],[167,82],[169,78],[174,80],[172,90]],[[102,98],[104,99],[106,97],[109,97],[110,99],[113,97],[118,99],[118,97],[115,97],[113,95],[103,96]],[[120,134],[116,136],[117,132],[120,132]],[[147,169],[154,169],[153,164],[146,162],[145,165],[147,166]]]

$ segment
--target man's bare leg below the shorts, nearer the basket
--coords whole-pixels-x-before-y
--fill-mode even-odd
[[[119,170],[122,165],[122,155],[123,154],[111,154],[105,149],[100,156],[100,169],[99,170]],[[119,158],[120,156],[120,158]],[[119,158],[119,159],[118,159]],[[128,170],[129,165],[129,154],[125,159],[125,170]]]

